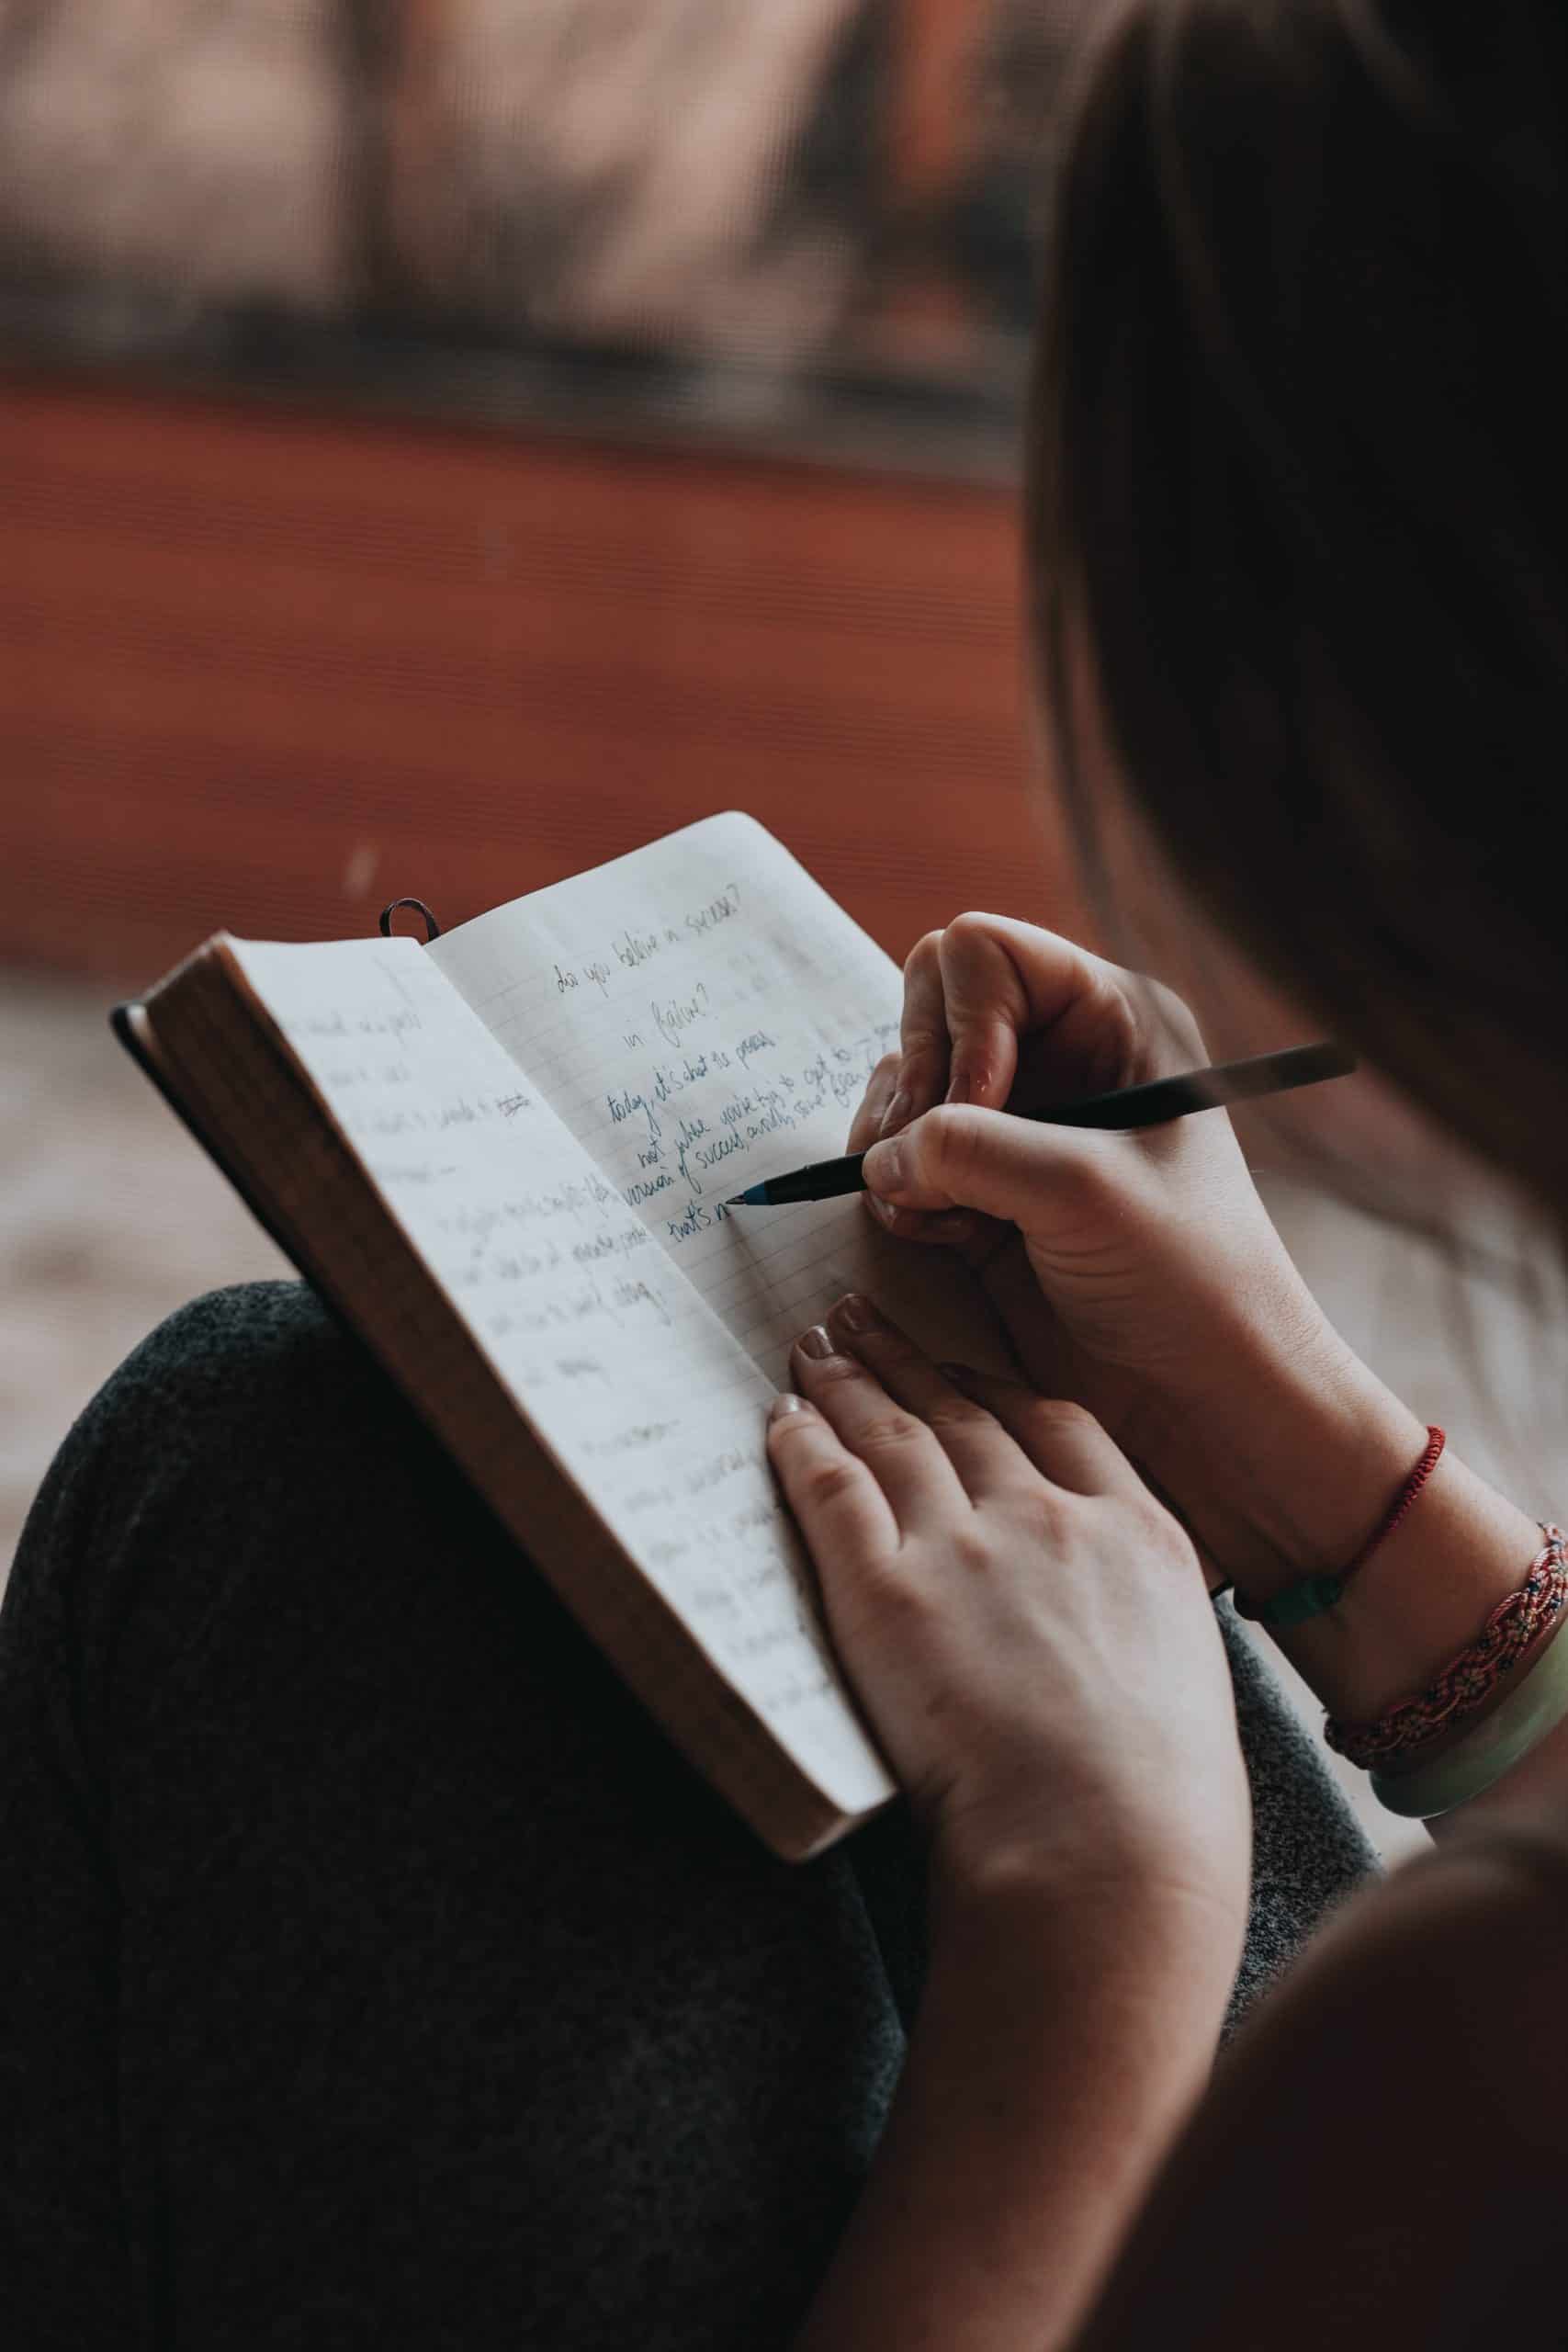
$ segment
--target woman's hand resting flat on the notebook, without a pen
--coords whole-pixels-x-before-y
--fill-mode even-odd
[[[813,1352],[813,1343],[816,1350]],[[1246,1929],[1251,1802],[1190,1538],[1081,1406],[938,1369],[863,1298],[769,1454],[933,1898],[1124,1889]]]

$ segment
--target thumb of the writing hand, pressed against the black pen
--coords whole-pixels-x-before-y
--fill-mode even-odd
[[[872,1143],[865,1183],[898,1209],[978,1209],[1037,1232],[1067,1204],[1074,1216],[1095,1202],[1110,1207],[1107,1141],[1006,1110],[943,1103],[900,1136]]]

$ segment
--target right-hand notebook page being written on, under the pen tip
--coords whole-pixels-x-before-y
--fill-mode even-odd
[[[1009,1369],[964,1268],[858,1200],[724,1202],[832,1160],[898,1042],[896,964],[750,816],[710,816],[428,950],[762,1374],[846,1289],[936,1357]]]

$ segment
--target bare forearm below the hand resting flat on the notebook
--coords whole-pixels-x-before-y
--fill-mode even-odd
[[[1067,2345],[1208,2084],[1237,1957],[1164,1889],[966,1903],[797,2352]]]

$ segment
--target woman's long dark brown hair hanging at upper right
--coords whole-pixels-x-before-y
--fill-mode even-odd
[[[1568,1218],[1566,350],[1563,0],[1114,9],[1030,416],[1065,781],[1081,626],[1199,903]]]

